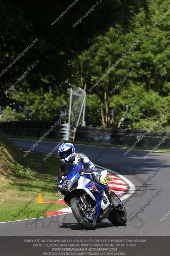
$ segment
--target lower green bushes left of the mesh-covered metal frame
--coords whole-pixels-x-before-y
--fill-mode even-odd
[[[25,116],[32,120],[55,121],[69,108],[68,94],[58,96],[57,92],[45,92],[42,87],[35,92],[14,91],[12,98]]]

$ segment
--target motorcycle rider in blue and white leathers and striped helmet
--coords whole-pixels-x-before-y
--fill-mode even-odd
[[[98,183],[102,188],[104,188],[106,195],[110,201],[110,203],[116,207],[118,206],[118,201],[116,197],[110,192],[110,188],[108,187],[107,180],[101,176],[99,173],[94,173],[95,166],[94,164],[89,160],[87,156],[85,156],[82,153],[76,153],[74,145],[72,143],[63,143],[58,148],[58,155],[61,159],[61,161],[64,163],[60,167],[60,174],[63,175],[60,176],[67,176],[64,175],[64,173],[67,172],[67,163],[73,164],[73,165],[79,165],[79,170],[82,170],[84,173],[91,172],[92,178],[95,180],[96,183]]]

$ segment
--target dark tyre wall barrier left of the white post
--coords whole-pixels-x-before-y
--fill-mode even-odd
[[[14,136],[43,136],[55,122],[50,121],[11,121],[0,122],[0,129],[6,135]],[[46,135],[45,135],[46,136]],[[60,139],[60,125],[56,125],[52,131],[49,131],[46,138]]]

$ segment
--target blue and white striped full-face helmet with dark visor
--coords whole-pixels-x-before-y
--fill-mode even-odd
[[[58,148],[58,155],[61,161],[66,164],[75,156],[75,148],[72,143],[63,143]]]

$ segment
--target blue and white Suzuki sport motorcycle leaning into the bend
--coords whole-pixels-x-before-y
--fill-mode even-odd
[[[107,177],[107,170],[98,172]],[[119,203],[116,208],[113,207],[91,173],[78,172],[78,166],[73,168],[72,164],[67,164],[67,171],[58,176],[57,189],[84,229],[94,229],[96,221],[106,218],[115,226],[122,226],[127,221],[127,213],[120,198],[111,191]]]

